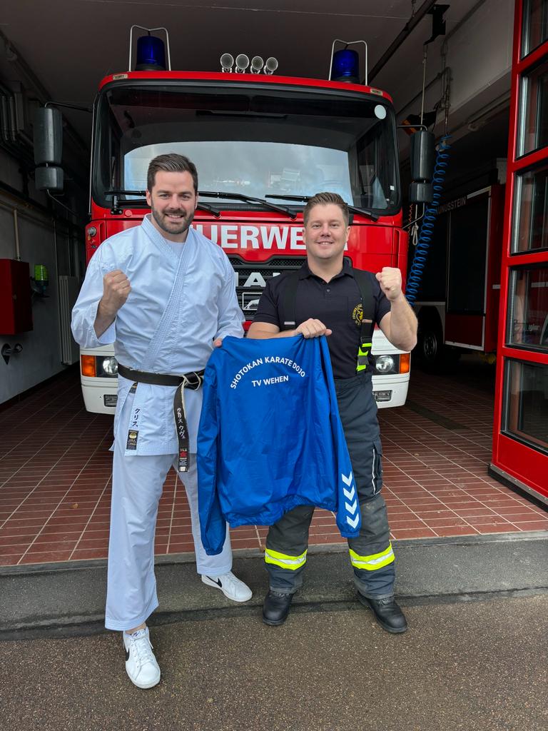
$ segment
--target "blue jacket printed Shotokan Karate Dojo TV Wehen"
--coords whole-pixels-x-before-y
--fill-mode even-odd
[[[224,338],[205,369],[198,431],[202,543],[221,553],[226,520],[270,526],[297,505],[360,512],[324,337]]]

